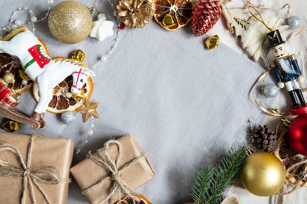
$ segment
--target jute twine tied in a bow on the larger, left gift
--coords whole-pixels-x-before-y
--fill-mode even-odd
[[[20,163],[20,166],[18,166],[0,159],[0,176],[9,177],[9,178],[18,178],[23,180],[21,204],[26,204],[27,187],[29,188],[30,191],[29,193],[30,193],[30,199],[32,200],[32,204],[36,204],[33,185],[35,185],[36,188],[39,190],[39,192],[43,195],[45,201],[48,204],[50,204],[50,201],[46,193],[39,186],[38,182],[56,185],[59,182],[70,181],[69,179],[62,179],[60,170],[54,166],[43,166],[38,168],[30,167],[34,139],[38,136],[40,135],[35,134],[30,136],[26,162],[24,161],[22,155],[15,146],[11,144],[0,145],[0,151],[9,151],[13,153]]]

